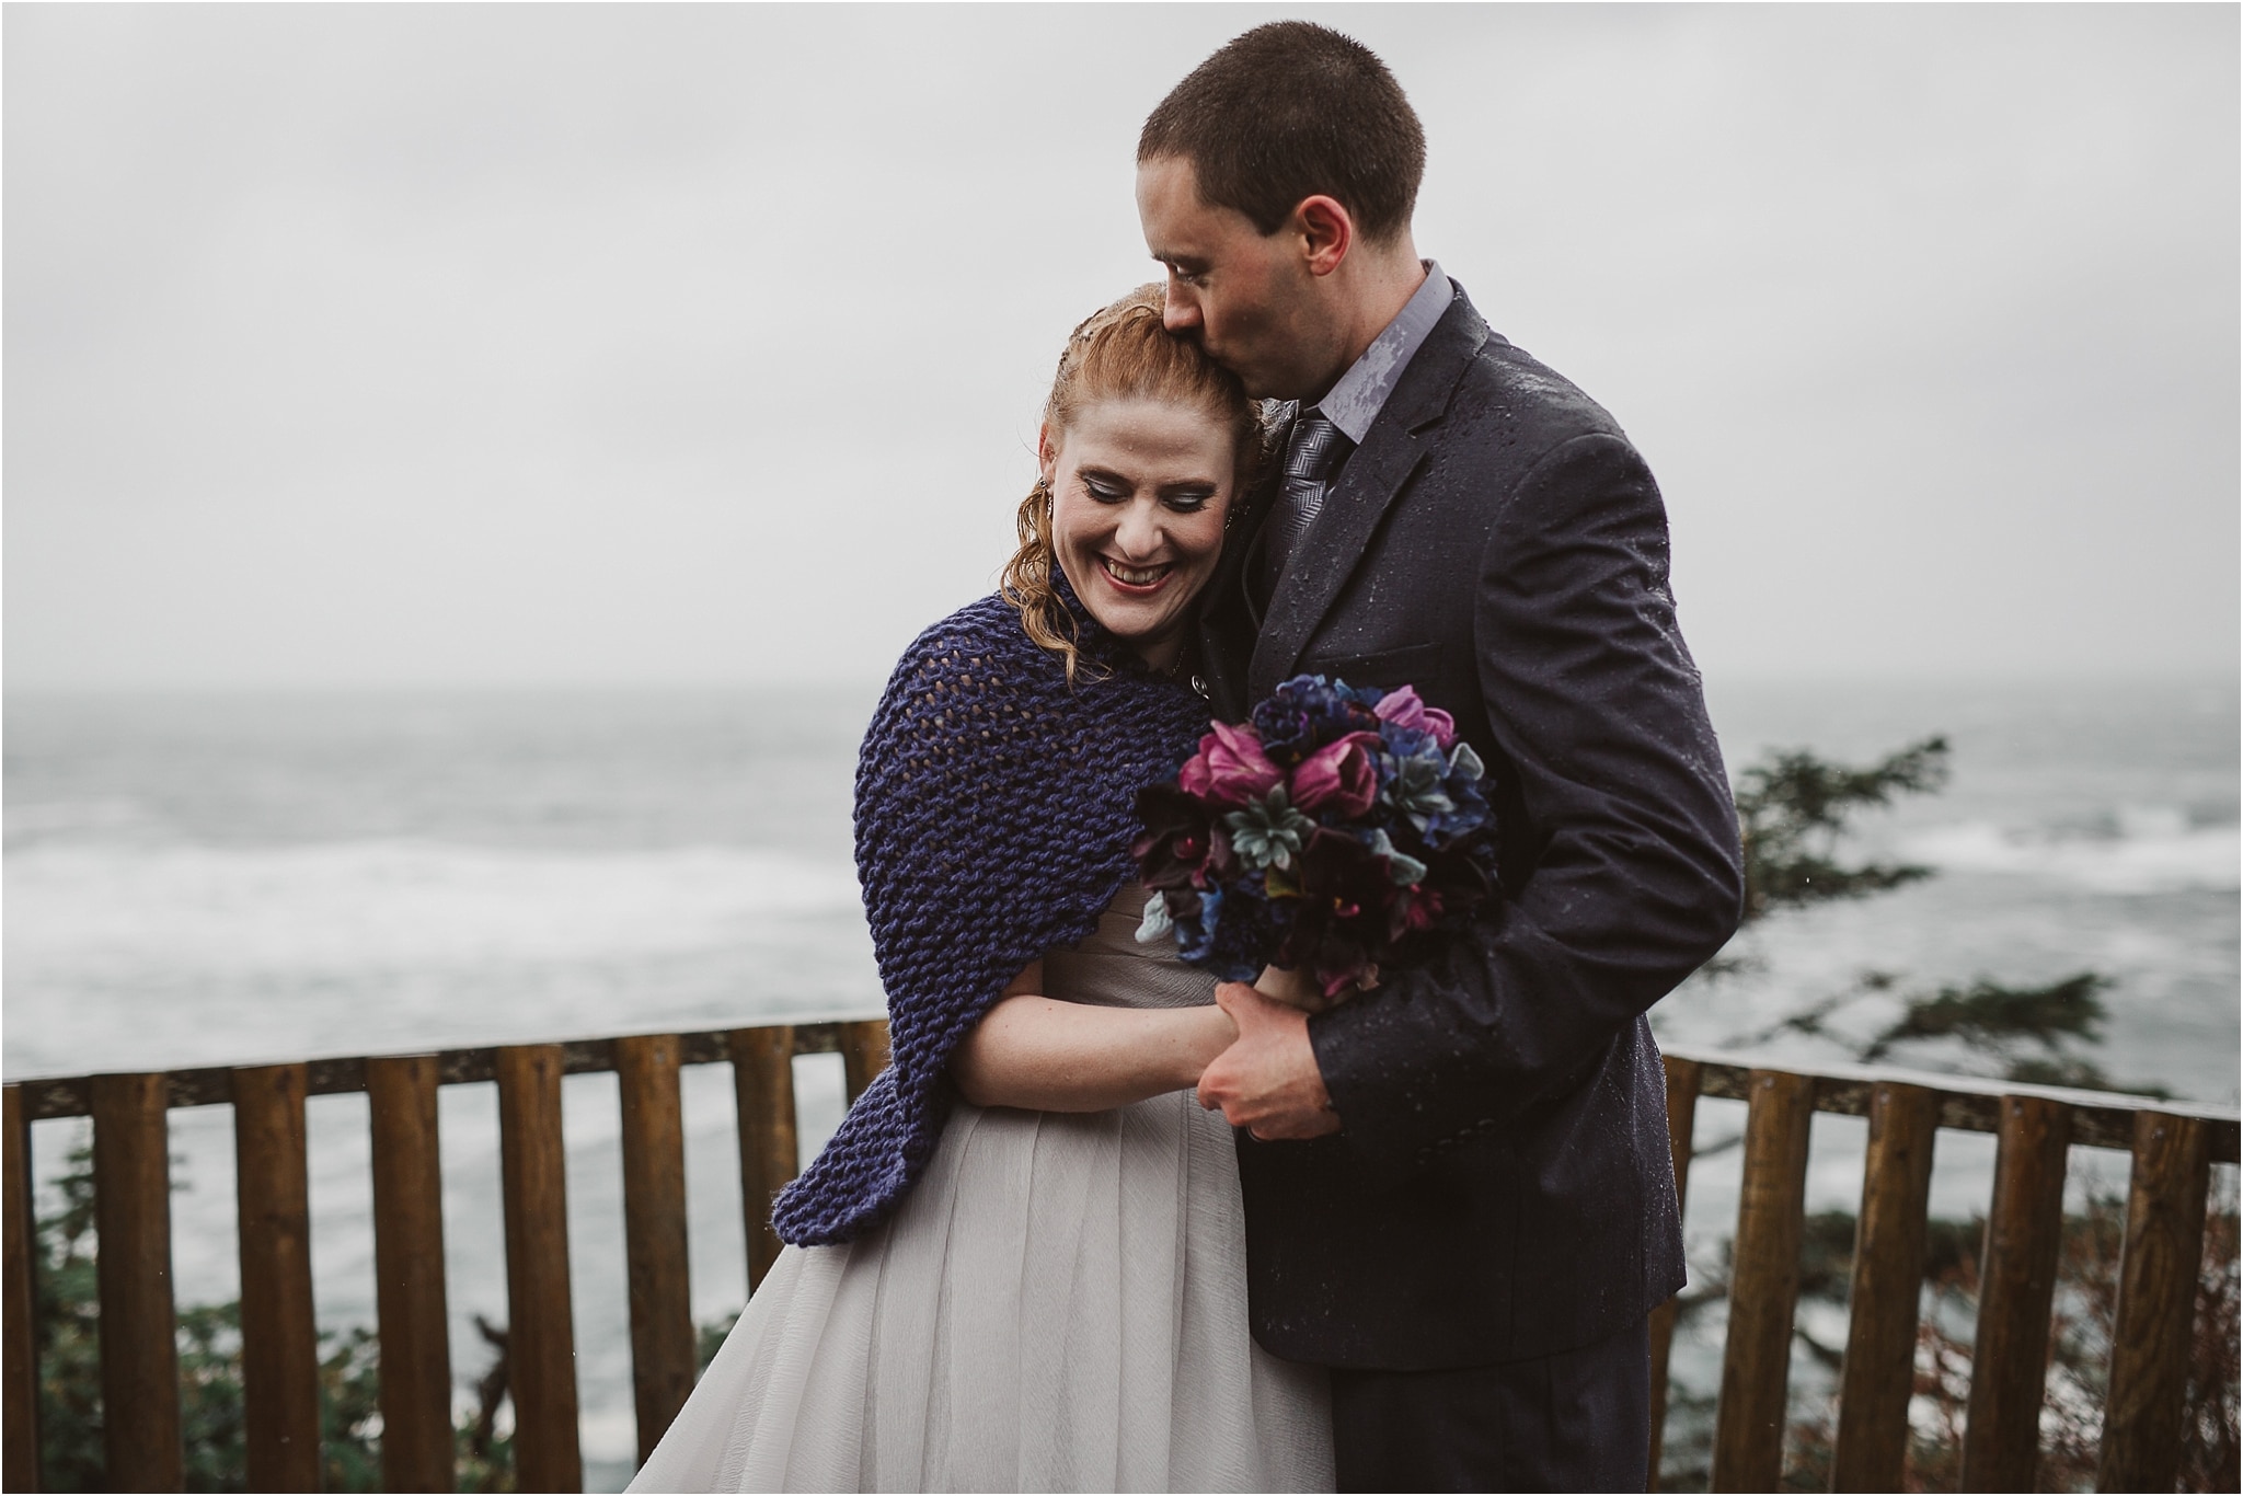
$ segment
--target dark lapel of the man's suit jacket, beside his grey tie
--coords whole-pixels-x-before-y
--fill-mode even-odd
[[[1362,565],[1386,507],[1424,462],[1449,395],[1485,341],[1487,323],[1458,287],[1456,301],[1402,372],[1402,384],[1386,397],[1362,449],[1339,469],[1339,482],[1294,547],[1254,639],[1249,700],[1270,695],[1299,666],[1301,650]],[[1261,552],[1258,545],[1254,550]]]

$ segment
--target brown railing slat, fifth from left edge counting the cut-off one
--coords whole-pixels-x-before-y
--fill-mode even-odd
[[[583,1489],[561,1065],[561,1045],[500,1045],[496,1059],[514,1471],[525,1492]]]

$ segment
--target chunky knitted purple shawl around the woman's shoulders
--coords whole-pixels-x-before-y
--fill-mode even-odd
[[[1133,872],[1137,789],[1173,778],[1207,704],[1148,673],[1061,583],[1083,668],[1000,594],[904,650],[857,754],[857,881],[893,1063],[772,1209],[799,1247],[852,1240],[920,1178],[944,1065],[1005,982],[1097,929]]]

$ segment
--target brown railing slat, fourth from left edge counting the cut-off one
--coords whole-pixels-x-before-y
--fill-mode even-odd
[[[453,1487],[437,1083],[435,1054],[366,1061],[366,1110],[375,1144],[381,1485],[390,1492]]]

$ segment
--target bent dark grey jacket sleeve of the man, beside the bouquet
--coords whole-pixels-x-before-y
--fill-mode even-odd
[[[1581,1083],[1743,904],[1667,514],[1624,437],[1557,444],[1501,500],[1474,648],[1530,872],[1429,964],[1310,1021],[1341,1137],[1375,1169],[1411,1171]]]

